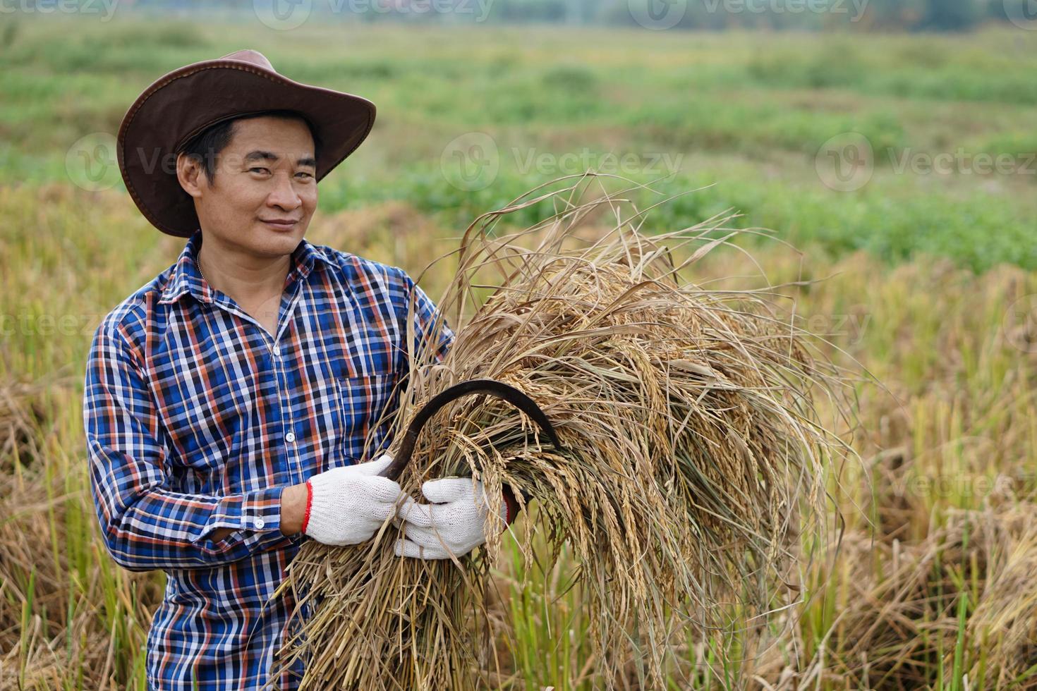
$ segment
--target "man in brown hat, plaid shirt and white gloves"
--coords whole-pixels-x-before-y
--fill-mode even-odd
[[[427,482],[435,503],[418,503],[379,474],[409,353],[438,334],[442,359],[453,333],[402,269],[303,239],[317,182],[374,112],[239,51],[166,75],[119,128],[138,208],[189,238],[103,320],[85,378],[108,550],[167,574],[151,688],[291,688],[271,674],[293,602],[272,596],[307,539],[358,544],[403,519],[397,555],[445,558],[484,542],[487,511],[514,515],[470,479]]]

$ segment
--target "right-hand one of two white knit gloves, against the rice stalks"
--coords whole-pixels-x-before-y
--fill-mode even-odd
[[[507,520],[504,497],[491,506],[482,482],[472,478],[429,480],[421,486],[421,493],[433,503],[418,503],[408,497],[393,519],[403,527],[403,539],[396,541],[396,556],[461,556],[486,541],[487,512],[495,511],[502,521]]]

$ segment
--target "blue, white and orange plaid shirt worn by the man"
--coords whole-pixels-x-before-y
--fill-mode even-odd
[[[389,447],[388,422],[372,428],[409,370],[409,300],[418,339],[442,315],[402,269],[303,240],[272,337],[201,278],[201,241],[196,231],[94,335],[94,505],[115,562],[168,575],[150,687],[293,688],[270,679],[295,606],[272,596],[305,539],[281,534],[281,492]],[[437,358],[452,341],[444,324]],[[217,528],[232,531],[216,542]]]

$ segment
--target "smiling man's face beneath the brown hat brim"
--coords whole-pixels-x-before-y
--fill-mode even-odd
[[[180,156],[180,181],[195,198],[202,236],[257,258],[290,254],[317,205],[313,148],[305,122],[264,116],[233,123],[212,183],[200,165]]]

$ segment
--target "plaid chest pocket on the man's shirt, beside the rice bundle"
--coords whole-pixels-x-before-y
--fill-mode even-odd
[[[399,406],[396,382],[396,375],[390,373],[338,378],[342,453],[349,463],[374,460],[388,450],[389,428]]]

